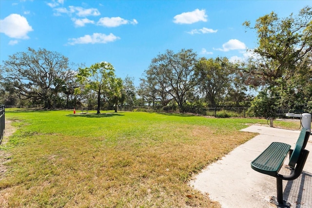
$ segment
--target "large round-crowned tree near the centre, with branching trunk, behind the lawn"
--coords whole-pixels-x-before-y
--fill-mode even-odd
[[[193,92],[196,85],[194,67],[197,55],[192,49],[182,49],[178,53],[167,50],[153,58],[148,70],[145,72],[150,83],[155,84],[158,93],[165,92],[173,98],[178,107],[182,109],[188,94]]]

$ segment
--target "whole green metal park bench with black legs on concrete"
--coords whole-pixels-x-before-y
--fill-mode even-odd
[[[303,128],[293,150],[289,144],[273,142],[251,162],[252,169],[276,178],[277,198],[272,197],[271,201],[275,205],[290,206],[283,200],[283,180],[290,181],[300,176],[309,154],[309,151],[305,150],[309,136],[310,132]],[[288,153],[290,153],[289,167],[292,173],[291,175],[278,174]]]

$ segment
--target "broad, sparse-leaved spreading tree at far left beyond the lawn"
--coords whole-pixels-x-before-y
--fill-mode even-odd
[[[75,74],[67,57],[46,49],[28,48],[3,63],[5,90],[19,99],[44,103],[47,108],[55,108],[58,94]]]

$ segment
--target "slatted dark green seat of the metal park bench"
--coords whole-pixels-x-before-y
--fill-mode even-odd
[[[284,164],[291,145],[273,142],[252,163],[252,169],[271,176],[276,176]]]

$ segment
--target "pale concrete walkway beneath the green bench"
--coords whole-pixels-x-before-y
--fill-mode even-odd
[[[202,170],[190,184],[208,193],[222,208],[276,207],[270,203],[270,197],[276,196],[276,179],[253,170],[250,163],[273,141],[290,144],[293,149],[300,131],[266,126],[250,126],[241,131],[258,132],[259,135]],[[284,200],[291,203],[291,208],[312,208],[312,136],[306,149],[310,154],[301,176],[293,181],[283,181]],[[285,167],[280,170],[282,174],[289,172]]]

